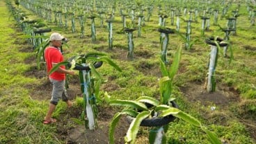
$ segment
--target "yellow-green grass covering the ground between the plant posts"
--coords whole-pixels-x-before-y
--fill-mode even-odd
[[[210,105],[205,106],[201,102],[191,102],[180,91],[181,87],[189,87],[194,84],[193,82],[199,82],[203,85],[210,52],[210,48],[205,44],[204,39],[210,35],[224,36],[223,32],[217,30],[217,26],[210,26],[212,31],[206,31],[205,37],[201,37],[200,23],[192,24],[191,37],[192,39],[198,38],[198,42],[195,42],[190,51],[183,51],[179,73],[175,77],[177,87],[173,94],[177,98],[180,109],[207,124],[223,142],[256,143],[255,138],[253,139],[250,136],[248,125],[241,122],[244,119],[252,120],[248,116],[255,116],[256,113],[256,67],[254,62],[256,60],[254,36],[256,28],[249,24],[246,17],[246,6],[241,6],[241,13],[243,15],[238,18],[237,22],[237,36],[230,36],[234,60],[229,63],[228,59],[220,55],[216,67],[217,89],[232,88],[236,93],[239,93],[239,99],[241,100],[227,103],[226,105],[229,108],[221,105],[217,106],[218,109],[213,113],[209,109]],[[57,128],[59,127],[57,125],[42,125],[49,100],[33,99],[33,96],[31,96],[32,89],[26,86],[27,84],[38,86],[43,80],[36,78],[34,75],[29,77],[24,75],[26,71],[31,71],[31,67],[35,66],[35,61],[25,63],[29,57],[35,57],[35,53],[33,51],[21,52],[27,46],[26,39],[21,38],[22,32],[13,18],[10,17],[10,12],[8,12],[3,1],[0,1],[0,15],[2,16],[0,19],[0,143],[66,143],[65,138],[61,138],[58,134]],[[38,16],[31,14],[29,17]],[[72,33],[70,27],[65,30],[51,23],[49,23],[49,26],[53,31],[62,33],[70,39],[70,42],[68,42],[70,48],[64,48],[65,57],[67,58],[77,53],[88,53],[90,51],[102,51],[113,57],[113,60],[123,69],[122,73],[118,73],[107,65],[99,69],[99,73],[104,78],[102,85],[112,84],[117,87],[117,89],[108,91],[112,99],[134,100],[139,96],[158,98],[159,84],[157,80],[161,75],[158,74],[159,62],[157,61],[160,54],[157,15],[154,13],[151,21],[146,21],[146,26],[143,27],[144,30],[141,33],[142,37],[137,37],[137,32],[134,32],[134,53],[136,55],[134,61],[127,60],[127,35],[118,33],[122,29],[122,23],[118,15],[116,15],[116,18],[115,21],[117,22],[113,24],[113,51],[108,49],[108,33],[106,27],[99,27],[99,19],[95,19],[97,35],[97,42],[95,43],[91,42],[90,21],[88,19],[86,20],[86,33],[83,39],[79,38],[78,22],[76,23],[76,33]],[[219,20],[219,23],[221,26],[225,26],[225,19]],[[181,33],[184,34],[186,23],[181,24]],[[170,26],[169,19],[166,25],[175,28],[175,26]],[[170,35],[169,60],[182,43],[179,36]],[[42,89],[44,88],[42,87]],[[102,92],[102,99],[103,96]],[[49,96],[47,97],[49,98]],[[77,101],[78,105],[75,105],[75,107],[81,107],[79,99]],[[106,104],[102,103],[102,105]],[[65,113],[65,109],[66,106],[61,103],[58,105],[54,116],[58,118],[63,112]],[[223,121],[223,118],[225,121]],[[72,129],[73,125],[74,123],[71,123],[67,127]],[[182,120],[172,123],[169,129],[169,143],[208,143],[205,135],[199,129],[195,129],[195,127],[184,123]]]

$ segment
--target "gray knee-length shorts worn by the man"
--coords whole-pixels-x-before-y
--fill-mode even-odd
[[[65,89],[65,80],[53,80],[49,78],[51,83],[53,84],[53,89],[51,93],[51,104],[57,105],[58,100],[62,99],[64,102],[67,102],[68,96],[67,96],[67,91]]]

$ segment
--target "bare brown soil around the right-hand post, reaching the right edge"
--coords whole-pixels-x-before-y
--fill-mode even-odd
[[[218,109],[218,111],[200,111],[202,116],[210,120],[211,123],[226,125],[227,120],[230,118],[239,118],[241,123],[248,129],[250,136],[255,139],[256,114],[253,111],[246,111],[248,105],[253,105],[253,103],[256,104],[255,100],[241,100],[239,92],[233,87],[219,84],[216,89],[217,90],[214,93],[208,93],[206,89],[204,89],[202,82],[190,82],[189,84],[186,84],[186,87],[180,88],[191,104],[199,102],[205,107],[214,106]],[[231,105],[236,105],[237,107],[235,114],[229,109]],[[236,114],[239,114],[239,116],[235,116]]]

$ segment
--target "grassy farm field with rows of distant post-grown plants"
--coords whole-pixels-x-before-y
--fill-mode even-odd
[[[218,10],[217,16],[214,10]],[[65,12],[74,12],[74,17]],[[148,12],[152,12],[150,17]],[[172,12],[176,14],[173,21]],[[122,106],[113,105],[115,100],[150,97],[167,105],[162,97],[166,93],[171,98],[167,103],[175,99],[178,109],[189,114],[184,120],[172,113],[178,118],[165,125],[166,143],[214,143],[202,127],[216,134],[221,143],[256,143],[255,2],[6,0],[0,1],[0,15],[0,143],[109,143],[112,120],[127,106],[125,102]],[[209,29],[207,21],[203,25],[204,19],[200,17],[210,18]],[[230,26],[227,18],[234,17],[236,26],[231,29],[236,33],[232,31],[225,40],[227,35],[223,31]],[[36,21],[29,24],[31,20]],[[43,28],[51,31],[31,35],[31,30]],[[161,28],[170,30],[168,41],[166,35],[159,33]],[[125,30],[132,31],[132,42],[131,33]],[[75,55],[101,53],[122,70],[104,61],[92,73],[92,79],[100,82],[100,91],[95,94],[98,127],[94,130],[84,125],[88,121],[84,112],[84,84],[75,70],[76,75],[67,75],[67,93],[73,106],[68,108],[65,102],[59,102],[53,116],[57,122],[42,123],[52,85],[36,50],[43,44],[38,39],[45,41],[54,32],[68,39],[63,44],[66,60]],[[210,90],[207,73],[213,47],[205,41],[209,37],[221,37],[228,44],[227,53],[223,47],[216,47],[218,55],[211,86],[216,82],[216,88]],[[214,39],[212,42],[216,44]],[[177,69],[177,73],[164,73],[164,66]],[[161,84],[165,82],[170,82],[164,87],[170,91],[163,90]],[[200,126],[196,126],[199,122]],[[126,116],[120,117],[113,134],[114,143],[125,143],[130,123]],[[132,142],[150,143],[150,133],[155,129],[136,128],[138,133],[135,138],[131,136]]]

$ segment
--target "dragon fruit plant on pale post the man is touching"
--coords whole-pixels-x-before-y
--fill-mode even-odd
[[[89,129],[97,128],[96,100],[99,100],[99,87],[102,78],[96,69],[102,66],[102,62],[110,64],[118,71],[122,71],[120,67],[109,57],[106,57],[104,53],[76,55],[71,57],[68,61],[56,64],[56,66],[49,71],[49,74],[51,74],[61,65],[66,65],[67,69],[79,71],[79,80],[81,83],[81,91],[83,93],[84,114],[86,114],[88,118],[88,123],[85,123],[85,127],[89,127]]]

